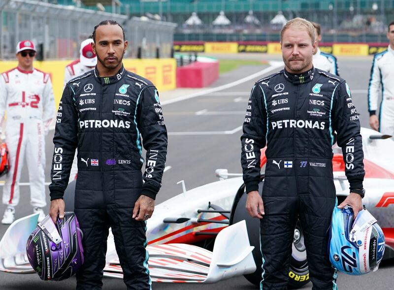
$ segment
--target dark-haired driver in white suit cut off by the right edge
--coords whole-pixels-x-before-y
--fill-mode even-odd
[[[369,125],[383,134],[394,136],[394,21],[387,32],[389,46],[373,58],[368,87]],[[378,99],[382,94],[379,119]]]

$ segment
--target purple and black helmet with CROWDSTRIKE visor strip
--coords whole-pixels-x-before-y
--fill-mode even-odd
[[[29,236],[26,251],[34,271],[44,281],[74,275],[83,264],[82,231],[73,212],[53,223],[48,215]]]

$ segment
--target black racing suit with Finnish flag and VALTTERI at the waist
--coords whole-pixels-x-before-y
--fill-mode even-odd
[[[298,76],[282,70],[254,85],[243,125],[241,163],[246,192],[257,191],[260,149],[267,144],[260,229],[264,290],[287,289],[298,219],[313,289],[332,289],[335,283],[327,253],[335,203],[334,131],[350,189],[362,189],[360,122],[343,79],[315,68]]]

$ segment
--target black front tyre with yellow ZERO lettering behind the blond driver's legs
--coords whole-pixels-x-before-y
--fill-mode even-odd
[[[263,190],[263,181],[259,184],[259,192]],[[244,275],[245,278],[252,284],[259,286],[262,280],[262,255],[260,252],[260,220],[253,219],[247,213],[245,187],[242,186],[234,198],[234,203],[231,209],[230,225],[239,221],[245,220],[248,230],[249,242],[253,249],[253,258],[256,263],[256,271],[251,274]],[[309,282],[309,271],[306,262],[305,246],[303,245],[302,229],[297,222],[295,230],[295,242],[293,243],[293,253],[289,269],[289,285],[291,289],[301,288]]]

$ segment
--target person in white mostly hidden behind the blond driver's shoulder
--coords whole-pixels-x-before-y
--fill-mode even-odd
[[[313,66],[339,76],[338,62],[332,54],[322,52],[319,42],[322,41],[322,28],[319,23],[311,22],[315,28],[317,50],[313,54]]]

